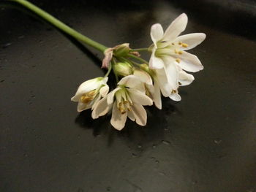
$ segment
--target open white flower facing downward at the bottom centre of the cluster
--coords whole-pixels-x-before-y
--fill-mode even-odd
[[[140,79],[131,74],[123,77],[118,82],[118,87],[103,97],[94,107],[92,118],[105,115],[112,108],[111,125],[117,130],[124,128],[127,117],[135,120],[140,126],[145,126],[147,121],[146,110],[143,105],[152,105],[153,101],[138,90]]]

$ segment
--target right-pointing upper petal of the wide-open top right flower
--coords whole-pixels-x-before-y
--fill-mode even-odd
[[[188,47],[181,47],[181,50],[190,50],[203,42],[204,39],[206,39],[206,34],[203,33],[185,34],[177,37],[176,42],[183,42],[188,45]]]

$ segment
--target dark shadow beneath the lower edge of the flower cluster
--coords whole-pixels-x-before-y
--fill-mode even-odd
[[[92,129],[94,137],[105,135],[108,137],[108,146],[113,145],[115,139],[122,138],[127,142],[131,148],[138,148],[138,144],[143,145],[143,149],[151,147],[154,143],[161,142],[165,138],[165,131],[171,131],[171,125],[167,123],[167,115],[174,115],[181,113],[178,108],[170,101],[163,99],[163,110],[158,110],[154,106],[146,107],[148,120],[145,127],[138,126],[137,123],[132,122],[127,118],[126,126],[122,131],[117,131],[110,125],[110,115],[102,116],[96,120],[91,118],[91,110],[80,112],[75,118],[81,128]]]

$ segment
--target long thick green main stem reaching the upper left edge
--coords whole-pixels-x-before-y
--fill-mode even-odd
[[[60,20],[58,20],[58,19],[54,18],[52,15],[48,14],[48,12],[45,12],[44,10],[35,6],[34,4],[31,4],[29,1],[26,1],[26,0],[10,0],[10,1],[15,1],[19,4],[22,4],[24,7],[30,9],[31,11],[35,12],[40,17],[47,20],[49,23],[53,24],[53,26],[56,26],[56,28],[61,29],[62,31],[69,34],[70,36],[75,37],[75,39],[78,39],[80,42],[84,42],[87,45],[94,47],[95,49],[101,51],[102,53],[104,53],[104,51],[108,48],[108,47],[105,47],[105,45],[102,45],[99,42],[95,42],[94,40],[90,39],[89,37],[86,37],[83,34],[80,34],[78,31],[75,31],[74,29],[70,28],[66,24],[62,23]]]

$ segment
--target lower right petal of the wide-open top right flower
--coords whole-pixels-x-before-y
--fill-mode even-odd
[[[177,55],[177,57],[181,59],[180,63],[178,64],[181,69],[184,69],[187,72],[198,72],[203,70],[203,65],[196,55],[182,51],[182,54]]]

